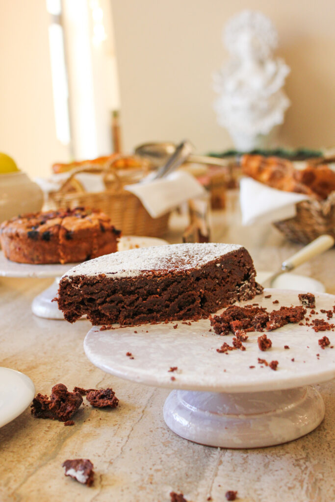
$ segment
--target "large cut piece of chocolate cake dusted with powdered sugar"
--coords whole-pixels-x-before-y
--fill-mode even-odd
[[[59,284],[69,322],[134,325],[199,319],[262,291],[237,244],[184,243],[130,249],[84,262]]]

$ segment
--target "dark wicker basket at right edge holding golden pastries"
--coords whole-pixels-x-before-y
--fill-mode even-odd
[[[296,204],[296,215],[274,225],[287,239],[307,244],[327,233],[335,237],[335,192],[325,200],[303,200]]]

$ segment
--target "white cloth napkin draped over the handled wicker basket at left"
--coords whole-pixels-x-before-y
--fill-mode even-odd
[[[165,178],[126,185],[124,188],[140,199],[153,218],[162,216],[182,202],[207,193],[191,174],[181,170]]]

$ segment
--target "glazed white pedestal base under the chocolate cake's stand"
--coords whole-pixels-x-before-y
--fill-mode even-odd
[[[207,446],[259,448],[304,436],[324,417],[313,387],[248,393],[172,391],[164,420],[179,436]]]

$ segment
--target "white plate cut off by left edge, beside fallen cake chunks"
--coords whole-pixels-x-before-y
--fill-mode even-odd
[[[0,427],[21,415],[33,401],[35,386],[29,376],[0,367]]]

